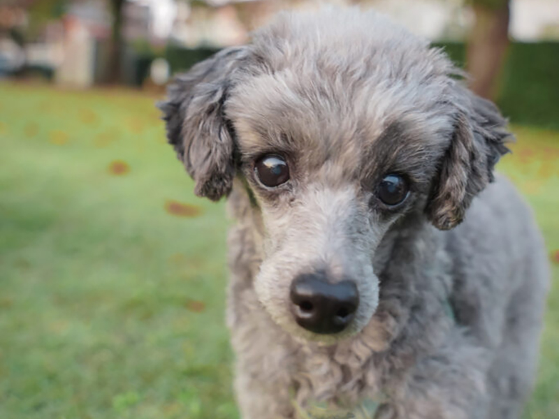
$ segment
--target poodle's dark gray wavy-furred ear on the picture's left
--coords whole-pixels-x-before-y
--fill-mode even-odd
[[[194,192],[211,200],[227,195],[235,176],[235,138],[224,103],[247,55],[247,47],[218,52],[175,78],[159,103],[168,142],[196,182]]]

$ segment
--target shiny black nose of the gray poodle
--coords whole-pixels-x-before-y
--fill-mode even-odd
[[[323,274],[304,274],[291,284],[291,309],[302,328],[321,335],[344,330],[359,304],[351,281],[329,284]]]

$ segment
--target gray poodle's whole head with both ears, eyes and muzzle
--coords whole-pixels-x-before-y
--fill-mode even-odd
[[[375,253],[407,216],[453,228],[509,135],[439,50],[375,13],[284,14],[180,75],[161,105],[196,193],[247,189],[262,225],[259,300],[331,342],[375,313]]]

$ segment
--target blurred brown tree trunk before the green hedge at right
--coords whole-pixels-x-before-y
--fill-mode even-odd
[[[479,96],[493,99],[497,94],[507,46],[509,45],[509,0],[489,7],[473,2],[475,24],[467,45],[467,71],[472,75],[471,89]]]

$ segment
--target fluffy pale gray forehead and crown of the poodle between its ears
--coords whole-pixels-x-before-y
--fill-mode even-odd
[[[254,36],[257,59],[226,102],[242,156],[334,159],[349,172],[376,142],[386,158],[411,149],[424,163],[422,142],[451,130],[450,61],[378,15],[322,17],[280,18]]]

